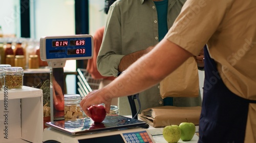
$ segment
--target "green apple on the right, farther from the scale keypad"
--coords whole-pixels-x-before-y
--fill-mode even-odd
[[[181,129],[181,140],[191,140],[196,132],[196,126],[194,123],[182,122],[179,125]]]

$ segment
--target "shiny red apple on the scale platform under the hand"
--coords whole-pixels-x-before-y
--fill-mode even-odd
[[[101,123],[106,117],[105,107],[103,105],[93,105],[89,107],[91,119],[94,123]]]

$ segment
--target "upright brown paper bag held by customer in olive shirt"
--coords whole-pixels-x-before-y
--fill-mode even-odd
[[[199,76],[194,56],[160,82],[160,95],[165,97],[197,97]]]

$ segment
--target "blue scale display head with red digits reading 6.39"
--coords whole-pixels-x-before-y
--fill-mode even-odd
[[[40,57],[42,61],[91,59],[93,37],[91,35],[42,37]]]

